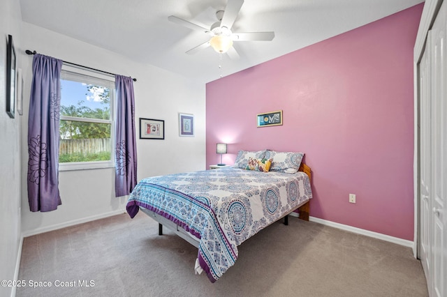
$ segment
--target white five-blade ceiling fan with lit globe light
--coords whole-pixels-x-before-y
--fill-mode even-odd
[[[199,50],[203,50],[206,47],[211,46],[216,52],[226,52],[230,58],[236,59],[239,55],[233,47],[233,41],[272,40],[274,38],[274,32],[271,31],[243,33],[233,33],[231,31],[231,27],[233,26],[243,3],[244,0],[228,0],[225,10],[217,11],[217,22],[212,24],[210,29],[199,26],[198,24],[193,24],[179,17],[175,17],[174,15],[170,15],[168,20],[170,22],[186,26],[189,29],[203,31],[203,33],[211,36],[205,43],[193,47],[191,50],[188,50],[186,54],[195,54]]]

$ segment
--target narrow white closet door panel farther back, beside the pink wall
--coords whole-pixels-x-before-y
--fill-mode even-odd
[[[419,135],[420,135],[420,241],[419,241],[419,257],[424,268],[425,277],[430,280],[430,253],[431,253],[431,224],[430,215],[432,208],[430,206],[430,153],[431,153],[431,136],[432,129],[430,105],[431,96],[431,53],[430,53],[430,36],[428,33],[425,52],[419,63]],[[430,289],[430,286],[429,286]]]

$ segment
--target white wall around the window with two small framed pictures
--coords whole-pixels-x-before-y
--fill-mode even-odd
[[[23,23],[23,50],[138,79],[135,90],[135,125],[138,118],[165,121],[165,139],[138,139],[138,180],[175,172],[205,169],[205,84],[154,66]],[[117,40],[117,42],[119,42]],[[131,45],[129,45],[131,46]],[[148,52],[147,54],[150,54]],[[27,144],[32,56],[24,54],[24,115],[22,142]],[[178,112],[196,116],[196,137],[179,137]],[[22,231],[24,236],[94,220],[125,211],[126,197],[115,197],[114,169],[59,172],[62,205],[56,211],[31,213],[27,200],[27,146],[22,146]],[[129,218],[130,220],[130,218]]]

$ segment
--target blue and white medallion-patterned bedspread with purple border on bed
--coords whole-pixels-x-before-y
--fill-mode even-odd
[[[145,178],[127,203],[175,222],[200,239],[198,261],[212,282],[237,259],[237,245],[312,198],[303,173],[222,169]]]

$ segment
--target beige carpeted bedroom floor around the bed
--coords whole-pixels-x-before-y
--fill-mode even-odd
[[[194,275],[197,249],[164,233],[140,212],[24,238],[16,296],[428,296],[410,248],[315,222],[262,230],[214,284]]]

